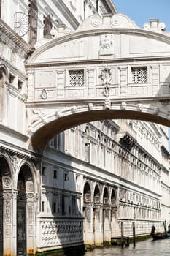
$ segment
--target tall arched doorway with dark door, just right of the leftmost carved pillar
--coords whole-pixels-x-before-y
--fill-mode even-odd
[[[36,186],[32,167],[28,162],[20,165],[17,179],[17,253],[18,255],[34,252],[36,236]]]

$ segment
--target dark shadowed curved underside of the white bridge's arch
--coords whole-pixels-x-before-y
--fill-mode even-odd
[[[36,149],[43,149],[47,142],[53,138],[54,135],[63,132],[65,129],[77,126],[79,124],[90,121],[104,120],[104,119],[136,119],[143,121],[151,121],[158,124],[163,124],[170,127],[170,121],[160,116],[152,115],[151,113],[141,113],[137,111],[128,110],[93,110],[88,112],[80,112],[72,115],[57,118],[44,124],[37,129],[31,136],[30,146]]]

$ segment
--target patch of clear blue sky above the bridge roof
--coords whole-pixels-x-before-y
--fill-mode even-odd
[[[128,15],[140,28],[150,23],[150,18],[158,18],[170,32],[170,0],[113,0],[113,3],[117,12]]]

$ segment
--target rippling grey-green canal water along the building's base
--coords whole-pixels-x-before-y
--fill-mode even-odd
[[[85,256],[166,256],[170,255],[170,238],[165,240],[140,241],[128,247],[111,246],[102,249],[94,249],[92,252],[85,252]],[[77,255],[79,256],[79,255]]]

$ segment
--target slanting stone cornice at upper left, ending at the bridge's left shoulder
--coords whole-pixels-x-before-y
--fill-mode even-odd
[[[31,45],[28,45],[13,29],[11,29],[7,23],[0,18],[0,32],[10,39],[15,45],[22,49],[26,54],[33,51]],[[1,38],[2,39],[2,38]]]

